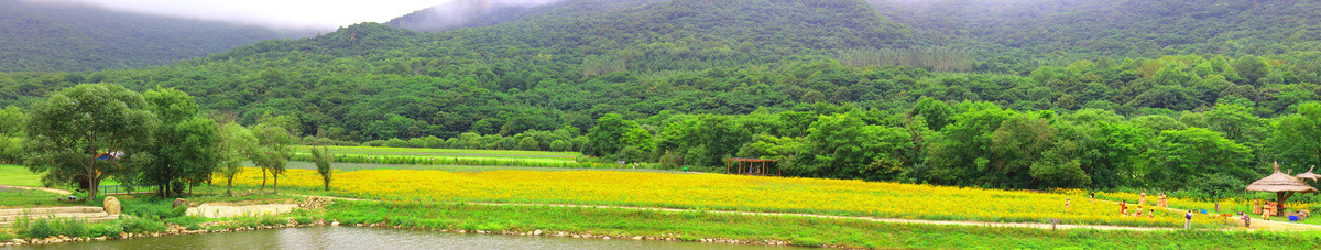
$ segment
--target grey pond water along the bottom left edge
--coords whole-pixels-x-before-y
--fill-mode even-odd
[[[720,245],[697,242],[583,239],[564,237],[526,237],[458,234],[371,228],[314,226],[236,233],[211,233],[133,238],[100,242],[58,243],[0,249],[649,249],[649,250],[787,250],[782,246]]]

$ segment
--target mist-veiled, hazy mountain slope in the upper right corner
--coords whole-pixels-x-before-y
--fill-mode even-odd
[[[930,44],[1016,57],[1283,54],[1321,48],[1309,0],[868,0]]]

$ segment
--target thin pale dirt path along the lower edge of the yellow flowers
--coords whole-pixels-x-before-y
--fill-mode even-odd
[[[346,197],[333,197],[333,196],[301,196],[300,197],[321,197],[341,201],[376,201],[376,200],[363,200],[363,198],[346,198]],[[863,221],[876,221],[876,222],[889,222],[889,224],[927,224],[927,225],[959,225],[959,226],[991,226],[991,228],[1030,228],[1030,229],[1052,229],[1050,224],[1036,224],[1036,222],[982,222],[982,221],[931,221],[931,220],[906,220],[906,218],[877,218],[877,217],[860,217],[860,216],[824,216],[824,214],[807,214],[807,213],[765,213],[765,212],[734,212],[734,210],[696,210],[696,209],[671,209],[671,208],[642,208],[642,206],[605,206],[605,205],[573,205],[573,204],[498,204],[498,202],[465,202],[474,205],[495,205],[495,206],[556,206],[556,208],[594,208],[594,209],[629,209],[629,210],[658,210],[658,212],[680,212],[680,213],[724,213],[724,214],[744,214],[744,216],[783,216],[783,217],[812,217],[812,218],[835,218],[835,220],[863,220]],[[1095,230],[1135,230],[1135,231],[1172,231],[1181,230],[1178,228],[1141,228],[1141,226],[1111,226],[1111,225],[1074,225],[1074,224],[1059,224],[1054,225],[1055,229],[1095,229]]]

